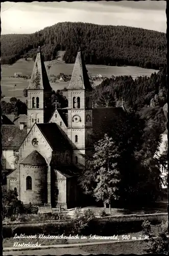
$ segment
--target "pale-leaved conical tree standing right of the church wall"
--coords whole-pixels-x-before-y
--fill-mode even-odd
[[[91,194],[96,201],[102,201],[104,206],[117,200],[120,174],[118,170],[118,147],[112,138],[105,134],[104,138],[94,145],[94,154],[88,160],[87,168],[83,171],[81,185],[86,193]]]

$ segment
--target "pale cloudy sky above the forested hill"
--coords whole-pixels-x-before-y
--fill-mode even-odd
[[[58,22],[131,26],[166,33],[165,1],[1,4],[2,34],[29,34]]]

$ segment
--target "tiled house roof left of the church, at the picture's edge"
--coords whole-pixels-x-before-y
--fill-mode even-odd
[[[27,129],[20,130],[16,125],[2,125],[3,150],[17,150],[27,136]]]

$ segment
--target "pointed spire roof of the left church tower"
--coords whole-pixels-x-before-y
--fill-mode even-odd
[[[49,79],[47,77],[40,47],[37,52],[35,65],[33,68],[31,80],[27,90],[45,90],[45,91],[52,90]]]

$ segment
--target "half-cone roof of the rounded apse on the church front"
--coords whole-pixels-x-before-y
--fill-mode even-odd
[[[34,150],[30,155],[28,155],[25,159],[23,159],[20,164],[27,165],[45,165],[46,161],[42,155],[39,154],[36,150]]]

